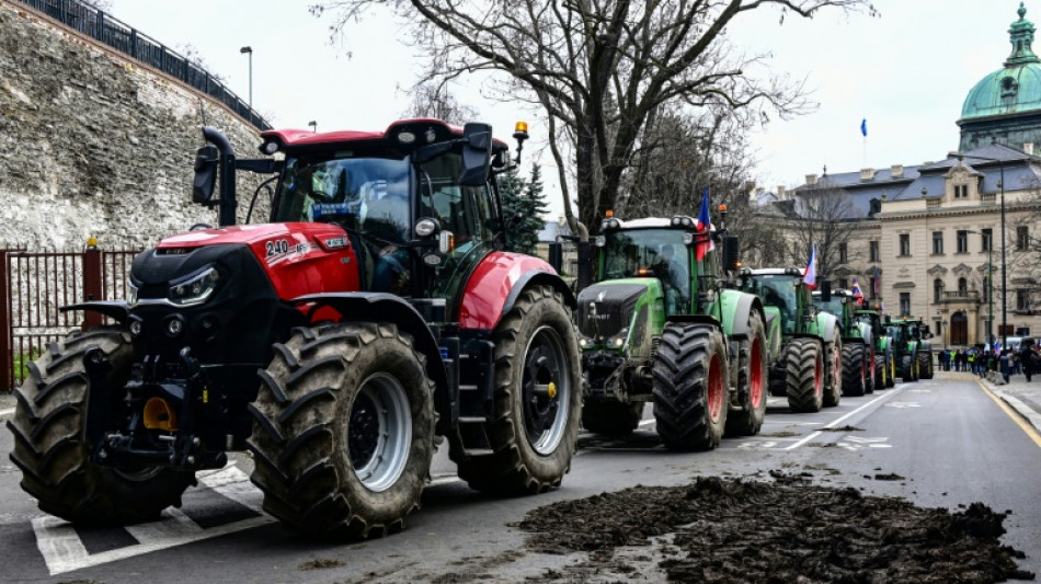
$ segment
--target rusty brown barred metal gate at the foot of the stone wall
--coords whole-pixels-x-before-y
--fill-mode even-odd
[[[70,331],[106,321],[96,312],[62,312],[85,300],[127,297],[130,262],[140,250],[28,252],[0,249],[0,391],[25,378],[25,365]]]

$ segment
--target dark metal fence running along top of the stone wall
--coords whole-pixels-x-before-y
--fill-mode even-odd
[[[18,1],[197,89],[214,101],[227,105],[256,128],[271,129],[267,121],[208,71],[119,20],[78,0]]]

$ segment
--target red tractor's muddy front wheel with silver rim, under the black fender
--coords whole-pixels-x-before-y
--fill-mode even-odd
[[[312,535],[384,536],[420,507],[434,454],[434,383],[389,323],[300,328],[250,404],[264,509]]]

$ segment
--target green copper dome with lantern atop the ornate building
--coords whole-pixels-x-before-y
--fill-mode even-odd
[[[1033,23],[1019,4],[1009,27],[1013,51],[1005,67],[980,80],[961,108],[961,144],[968,151],[992,142],[1032,150],[1041,144],[1041,58],[1033,53]],[[1033,153],[1028,151],[1028,153]]]

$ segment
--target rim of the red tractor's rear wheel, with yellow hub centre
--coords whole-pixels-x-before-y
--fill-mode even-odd
[[[552,454],[567,430],[572,390],[564,345],[554,329],[542,327],[531,335],[524,352],[520,387],[528,443],[540,455]]]

